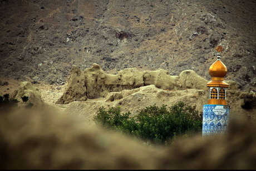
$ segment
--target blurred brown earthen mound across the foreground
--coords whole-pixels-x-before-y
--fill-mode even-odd
[[[0,111],[0,169],[255,169],[255,125],[225,136],[179,138],[166,147],[56,111]]]

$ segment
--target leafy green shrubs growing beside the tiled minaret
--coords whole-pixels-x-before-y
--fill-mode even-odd
[[[139,110],[134,117],[130,115],[130,112],[121,113],[120,107],[111,107],[107,111],[100,107],[94,121],[151,143],[166,143],[175,136],[200,132],[202,127],[202,116],[195,106],[186,106],[183,102],[171,107],[149,106]]]

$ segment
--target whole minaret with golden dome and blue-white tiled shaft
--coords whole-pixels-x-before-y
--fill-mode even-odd
[[[224,81],[227,67],[220,61],[222,46],[218,46],[217,60],[210,66],[211,81],[206,84],[209,87],[208,105],[203,107],[203,136],[215,133],[224,133],[228,127],[229,106],[226,101],[226,89],[229,84]]]

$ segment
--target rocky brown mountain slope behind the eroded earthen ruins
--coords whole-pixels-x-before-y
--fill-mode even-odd
[[[63,84],[72,65],[191,69],[210,79],[223,45],[228,80],[255,91],[255,1],[0,1],[0,74]]]

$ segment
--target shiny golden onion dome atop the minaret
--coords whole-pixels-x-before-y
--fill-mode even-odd
[[[224,77],[227,75],[227,67],[220,61],[220,55],[218,59],[210,66],[209,74],[211,77]]]

